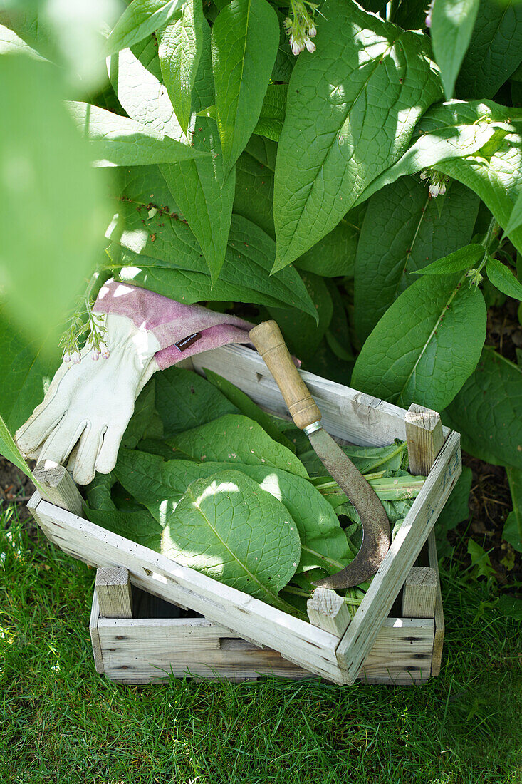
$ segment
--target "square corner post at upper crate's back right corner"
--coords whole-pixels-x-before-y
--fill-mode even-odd
[[[412,403],[406,412],[406,441],[410,473],[427,477],[444,444],[440,414]]]

